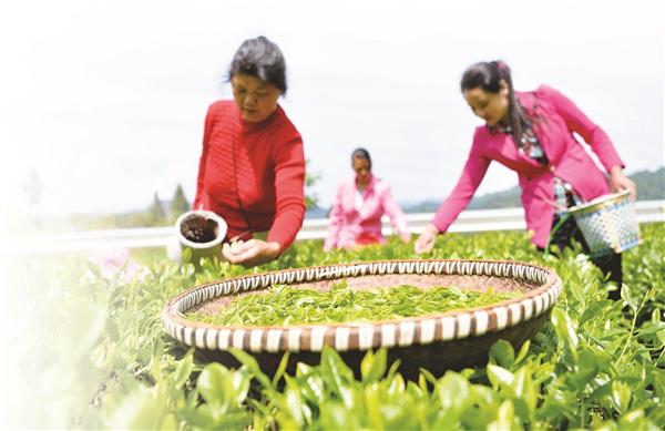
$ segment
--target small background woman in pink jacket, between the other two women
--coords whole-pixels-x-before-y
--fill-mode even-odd
[[[324,250],[386,244],[381,233],[383,214],[390,217],[401,240],[409,243],[411,233],[407,216],[392,197],[390,185],[371,174],[369,153],[356,150],[351,163],[356,175],[342,178],[337,186]]]

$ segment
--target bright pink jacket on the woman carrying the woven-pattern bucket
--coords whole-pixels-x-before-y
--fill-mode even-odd
[[[441,233],[467,207],[492,161],[518,173],[526,230],[534,230],[531,242],[543,248],[554,217],[553,206],[546,203],[554,201],[553,175],[570,183],[585,201],[610,193],[605,175],[572,133],[577,133],[591,145],[607,172],[613,166],[624,166],[607,134],[559,91],[541,85],[531,93],[515,93],[525,107],[536,106],[536,114],[542,120],[540,124],[534,123],[533,129],[549,165],[522,155],[511,136],[498,131],[490,133],[484,125],[477,127],[462,175],[431,222]]]

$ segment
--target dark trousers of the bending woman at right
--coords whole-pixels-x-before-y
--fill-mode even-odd
[[[556,226],[561,218],[554,216],[554,222],[552,223],[552,227]],[[577,227],[574,217],[569,217],[563,225],[559,227],[559,229],[554,233],[554,237],[550,242],[550,245],[555,245],[560,249],[564,249],[565,247],[572,248],[572,239],[575,239],[580,244],[582,244],[582,249],[584,253],[589,254],[589,245],[584,240],[584,236],[582,232]],[[544,252],[544,248],[538,247],[541,252]],[[554,253],[553,253],[554,254]],[[610,299],[618,300],[621,299],[621,284],[623,283],[623,269],[621,265],[621,253],[612,253],[610,256],[603,256],[591,259],[595,266],[601,268],[603,274],[607,276],[610,274],[608,281],[614,281],[617,286],[616,290],[610,291]]]

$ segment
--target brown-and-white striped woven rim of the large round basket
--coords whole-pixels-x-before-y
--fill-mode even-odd
[[[431,273],[431,267],[430,267],[430,271],[427,271],[427,273],[418,273],[418,271],[411,270],[411,271],[405,271],[405,273],[389,273],[389,274],[371,273],[371,274],[366,274],[366,275],[374,275],[374,276],[383,276],[383,275],[392,275],[392,274],[423,275],[423,276],[427,276],[427,275],[483,276],[484,275],[484,276],[489,276],[489,277],[493,276],[493,277],[508,277],[508,278],[513,278],[513,279],[526,279],[530,281],[538,283],[540,286],[535,287],[533,290],[524,294],[523,296],[521,296],[519,298],[512,298],[512,299],[503,300],[500,302],[494,302],[494,304],[482,306],[482,307],[451,310],[451,311],[438,312],[438,314],[433,314],[433,315],[415,316],[415,317],[408,317],[408,318],[395,319],[395,320],[372,320],[372,321],[362,321],[362,322],[229,327],[229,326],[218,326],[218,325],[194,322],[194,321],[187,320],[185,318],[182,318],[181,316],[178,316],[178,314],[174,309],[175,305],[178,304],[181,300],[184,300],[184,299],[191,298],[191,297],[196,297],[197,295],[201,296],[198,298],[198,300],[196,302],[193,302],[190,306],[187,306],[187,309],[190,309],[192,306],[194,306],[196,304],[203,302],[207,299],[212,299],[215,297],[236,295],[241,291],[260,290],[260,289],[268,288],[270,286],[270,284],[267,284],[265,286],[257,285],[256,287],[243,290],[239,288],[239,281],[242,281],[244,279],[245,280],[256,280],[257,278],[260,279],[262,277],[264,277],[264,281],[265,281],[265,278],[269,279],[270,275],[273,275],[275,277],[278,274],[290,275],[291,273],[296,273],[296,271],[300,271],[300,273],[309,271],[314,275],[311,277],[311,279],[297,280],[297,283],[309,283],[309,281],[318,281],[318,280],[336,280],[336,279],[352,278],[352,277],[359,276],[359,275],[356,275],[356,276],[346,275],[345,276],[344,274],[334,276],[335,274],[341,273],[341,270],[344,268],[348,268],[348,267],[355,268],[355,267],[365,266],[367,269],[369,266],[375,266],[375,269],[376,269],[377,266],[383,265],[385,268],[387,268],[388,266],[391,266],[392,270],[395,270],[396,265],[400,265],[400,264],[405,265],[405,266],[411,265],[411,268],[416,268],[416,265],[420,265],[420,269],[423,269],[428,265],[434,266],[437,264],[440,264],[441,268],[443,268],[443,267],[448,268],[449,266],[452,266],[453,269],[456,269],[456,271],[450,271],[450,273],[441,271],[439,274],[434,274],[434,273]],[[479,270],[481,270],[480,268],[483,265],[485,266],[485,268],[487,267],[490,268],[488,274],[484,274],[484,273],[481,274],[479,271],[473,273],[474,268],[479,268]],[[463,268],[469,268],[469,267],[471,268],[470,273],[473,273],[473,274],[464,274],[464,271],[460,271],[461,268],[463,269]],[[535,274],[535,271],[541,271],[539,274],[542,276],[541,278],[544,278],[544,279],[536,280],[536,279],[526,278],[526,277],[516,277],[515,276],[515,271],[518,270],[516,267],[524,268],[524,269],[522,269],[523,274],[526,273],[526,270],[528,270],[526,268],[532,268],[533,274]],[[329,270],[330,268],[337,269],[337,273],[330,273],[330,270]],[[494,274],[491,274],[492,268],[494,268]],[[499,268],[503,268],[504,274],[498,274]],[[512,276],[508,276],[509,269],[511,269],[511,268],[512,268],[513,274],[512,274]],[[328,271],[323,273],[326,269],[328,269]],[[543,276],[543,274],[544,274],[544,276]],[[332,275],[332,277],[330,277],[331,275]],[[317,276],[318,276],[318,278],[316,278]],[[536,276],[534,276],[534,277],[538,278]],[[219,295],[211,294],[208,296],[205,296],[206,289],[212,290],[212,289],[214,289],[214,287],[218,287],[221,284],[229,284],[231,285],[234,281],[236,281],[236,285],[238,286],[236,291],[234,291],[234,293],[229,291],[228,294],[222,293]],[[294,280],[291,283],[279,283],[279,284],[293,284],[293,283],[296,283],[296,281]],[[376,330],[376,329],[383,328],[386,326],[399,327],[400,325],[403,325],[403,324],[424,325],[426,321],[438,320],[438,321],[442,322],[447,318],[456,319],[456,321],[457,321],[457,319],[460,316],[466,316],[464,317],[466,320],[468,320],[467,317],[471,317],[474,319],[477,316],[484,316],[483,318],[487,319],[488,314],[493,314],[497,316],[495,319],[499,319],[499,317],[498,317],[499,309],[503,310],[502,314],[505,314],[507,310],[510,309],[510,315],[511,315],[511,325],[510,326],[514,326],[514,325],[523,324],[524,321],[529,320],[530,318],[533,318],[542,312],[546,312],[546,310],[549,310],[550,308],[552,308],[554,306],[556,299],[561,295],[561,290],[562,290],[561,279],[559,278],[559,276],[552,268],[548,268],[548,267],[544,267],[544,266],[538,265],[538,264],[519,261],[519,260],[485,260],[485,259],[374,260],[374,261],[358,261],[358,263],[337,264],[337,265],[323,265],[323,266],[307,267],[307,268],[283,269],[283,270],[277,270],[277,271],[242,275],[242,276],[226,278],[223,280],[208,281],[208,283],[205,283],[205,284],[202,284],[198,286],[194,286],[185,291],[182,291],[178,295],[176,295],[175,297],[173,297],[171,300],[168,300],[168,302],[164,306],[162,318],[164,321],[164,327],[166,328],[168,333],[172,335],[172,337],[174,337],[178,341],[183,341],[190,346],[197,346],[198,342],[197,342],[196,337],[198,337],[198,336],[204,337],[203,333],[207,335],[207,332],[209,330],[213,330],[216,332],[226,331],[227,335],[233,335],[235,332],[242,332],[243,336],[245,332],[260,332],[260,333],[263,333],[263,332],[279,332],[279,335],[280,335],[282,332],[289,332],[289,331],[298,331],[298,333],[300,333],[300,332],[309,333],[309,332],[314,332],[317,330],[318,331],[320,331],[320,330],[337,331],[340,329],[341,330],[348,329],[355,333],[355,331],[358,331],[360,328],[365,328],[365,329],[374,328]],[[529,307],[526,307],[526,304],[529,304]],[[526,308],[529,308],[532,311],[534,311],[534,310],[538,311],[539,306],[540,306],[540,311],[538,314],[532,312],[530,315],[530,317],[526,318],[526,316],[525,316]],[[514,309],[516,309],[518,311],[514,311]],[[519,320],[516,322],[513,322],[513,320],[514,320],[513,312],[516,312],[516,315],[519,316]],[[508,315],[505,315],[505,316],[508,316]],[[507,319],[507,317],[505,317],[505,319]],[[432,325],[432,324],[428,324],[428,325]],[[498,328],[495,330],[501,330],[505,327],[508,327],[508,325],[503,326],[502,328]],[[202,332],[197,332],[197,331],[202,331]],[[184,332],[187,332],[188,335],[184,333]],[[198,333],[198,336],[194,335],[193,332]],[[181,340],[178,338],[178,333],[181,336],[180,338],[183,338],[183,340]],[[260,333],[259,333],[259,337],[262,336]],[[474,335],[474,333],[471,333],[471,335]],[[480,335],[482,335],[482,333],[480,333]],[[190,341],[190,342],[187,342],[187,341]],[[282,349],[282,350],[284,350],[284,349]],[[253,351],[255,351],[255,350],[253,349]],[[266,351],[265,346],[262,345],[260,351]],[[267,351],[269,351],[269,349],[267,349]],[[315,351],[315,350],[313,350],[313,351]]]

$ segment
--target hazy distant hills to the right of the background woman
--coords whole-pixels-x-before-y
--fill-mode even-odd
[[[641,171],[628,178],[635,182],[637,187],[637,201],[665,199],[665,167],[656,172]],[[482,196],[473,196],[467,209],[492,209],[514,208],[522,205],[520,195],[522,191],[514,186],[503,192],[488,193]],[[432,213],[439,208],[443,201],[426,201],[418,205],[402,206],[405,213]]]

